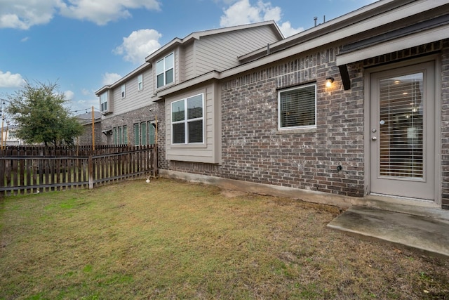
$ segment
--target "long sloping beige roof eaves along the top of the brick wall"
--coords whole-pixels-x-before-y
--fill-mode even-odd
[[[446,22],[449,20],[448,15],[449,0],[380,0],[287,39],[270,44],[269,48],[260,48],[241,56],[239,58],[241,65],[222,72],[202,74],[176,86],[170,86],[168,89],[158,92],[154,100],[159,100],[170,93],[186,89],[195,84],[201,84],[204,81],[220,80],[241,74],[256,67],[274,63],[288,56],[295,56],[297,53],[310,51],[337,41],[342,44],[343,49],[342,53],[337,56],[337,65],[340,65],[373,54],[372,51],[366,51],[366,48],[363,48],[366,45],[372,46],[373,43],[377,43],[374,56],[382,54],[382,51],[391,51],[391,48],[385,46],[385,44],[399,44],[398,47],[407,48],[414,44],[448,39],[449,23]],[[415,24],[416,22],[422,22],[422,24]],[[374,33],[373,30],[377,32],[375,39],[371,35]],[[365,36],[361,40],[356,39],[354,43],[354,37],[360,37],[360,34]],[[417,36],[419,36],[418,39]],[[394,41],[389,39],[394,39]],[[350,42],[345,43],[344,41]],[[360,43],[362,44],[359,45]],[[358,55],[360,53],[361,55]]]

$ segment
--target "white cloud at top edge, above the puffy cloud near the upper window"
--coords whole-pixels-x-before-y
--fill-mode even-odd
[[[128,9],[146,8],[159,11],[157,0],[69,0],[69,4],[62,2],[60,13],[68,18],[88,20],[97,25],[129,18]]]

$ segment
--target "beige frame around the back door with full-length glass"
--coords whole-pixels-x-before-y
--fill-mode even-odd
[[[418,63],[426,63],[429,61],[435,62],[435,200],[434,203],[441,205],[441,58],[440,55],[435,54],[421,58],[410,60],[403,60],[399,63],[391,63],[377,67],[369,67],[363,70],[363,85],[364,85],[364,132],[363,132],[363,147],[364,147],[364,181],[365,181],[365,195],[370,195],[370,78],[371,73],[391,70],[397,67],[406,67],[408,65],[415,65]]]

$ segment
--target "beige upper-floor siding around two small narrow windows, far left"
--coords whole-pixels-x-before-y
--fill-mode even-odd
[[[135,74],[124,84],[125,98],[121,98],[121,84],[114,89],[114,115],[121,115],[130,110],[136,110],[141,107],[148,106],[153,96],[153,69],[143,72],[143,89],[138,91],[138,76]]]

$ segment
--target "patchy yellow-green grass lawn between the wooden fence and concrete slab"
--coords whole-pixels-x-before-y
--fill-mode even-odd
[[[0,299],[449,299],[449,260],[336,207],[168,179],[0,200]]]

